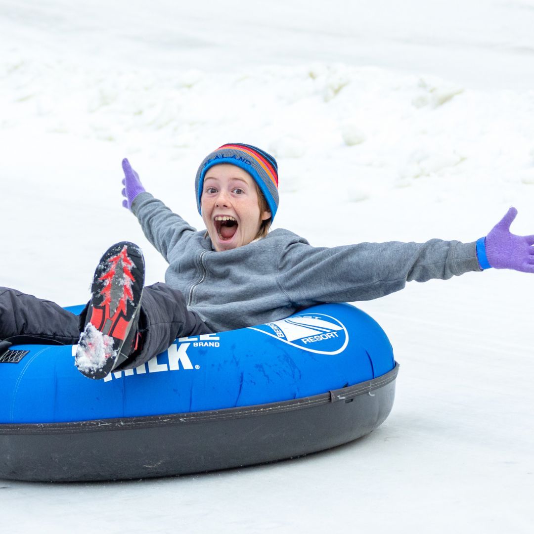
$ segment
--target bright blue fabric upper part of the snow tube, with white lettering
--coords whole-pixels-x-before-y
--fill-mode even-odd
[[[73,308],[72,311],[81,311]],[[380,326],[348,304],[267,325],[182,338],[150,362],[89,380],[70,345],[19,345],[0,364],[0,423],[51,423],[200,412],[309,397],[391,371]]]

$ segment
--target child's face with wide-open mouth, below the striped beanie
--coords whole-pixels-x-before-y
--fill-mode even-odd
[[[206,172],[200,208],[217,252],[248,245],[256,238],[262,221],[271,217],[270,211],[260,213],[252,176],[229,163],[215,165]]]

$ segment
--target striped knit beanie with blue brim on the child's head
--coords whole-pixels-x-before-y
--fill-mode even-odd
[[[260,191],[263,193],[265,200],[271,211],[271,222],[274,214],[278,209],[278,166],[276,160],[270,154],[260,148],[242,143],[227,143],[219,146],[217,150],[208,154],[200,164],[195,178],[195,192],[197,193],[197,207],[199,213],[200,197],[204,185],[204,176],[209,168],[220,163],[230,163],[241,167],[254,178]]]

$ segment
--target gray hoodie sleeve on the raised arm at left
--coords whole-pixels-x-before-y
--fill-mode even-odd
[[[179,215],[155,199],[150,193],[140,193],[132,203],[131,210],[137,217],[143,232],[156,250],[169,262],[169,254],[180,242],[197,232]]]

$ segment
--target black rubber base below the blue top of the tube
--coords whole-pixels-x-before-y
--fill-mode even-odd
[[[128,480],[264,464],[370,433],[391,411],[398,365],[368,382],[280,403],[72,423],[0,425],[0,478]]]

